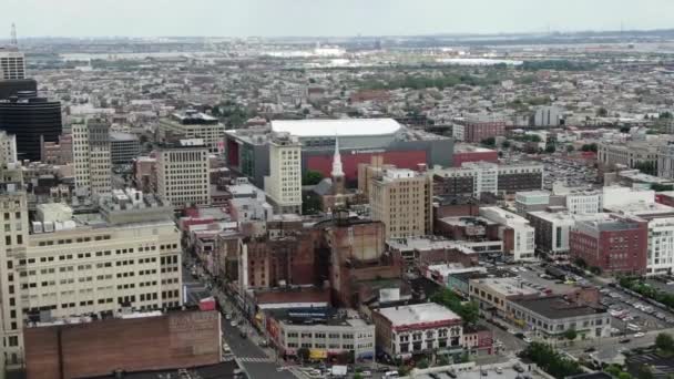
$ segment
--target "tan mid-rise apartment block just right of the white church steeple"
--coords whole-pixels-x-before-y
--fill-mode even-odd
[[[386,238],[432,232],[432,178],[425,172],[387,168],[370,180],[371,216],[386,226]]]

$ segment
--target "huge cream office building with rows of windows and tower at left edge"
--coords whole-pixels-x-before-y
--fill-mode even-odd
[[[182,305],[180,233],[173,208],[134,190],[102,196],[96,213],[0,196],[2,335],[9,367],[22,363],[24,322]],[[30,234],[29,234],[30,231]]]

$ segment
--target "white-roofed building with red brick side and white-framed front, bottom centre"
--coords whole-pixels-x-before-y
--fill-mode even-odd
[[[394,358],[461,350],[461,317],[435,303],[379,308],[372,311],[377,346]]]

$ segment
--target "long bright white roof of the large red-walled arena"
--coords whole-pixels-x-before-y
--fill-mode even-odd
[[[272,121],[273,132],[287,132],[298,137],[387,135],[401,129],[394,119]]]

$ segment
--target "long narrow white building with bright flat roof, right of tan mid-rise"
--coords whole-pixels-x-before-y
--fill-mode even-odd
[[[513,260],[534,258],[535,231],[529,225],[527,218],[497,206],[480,208],[480,216],[502,225],[499,229],[499,238],[504,242],[503,248],[506,253],[512,255]]]

